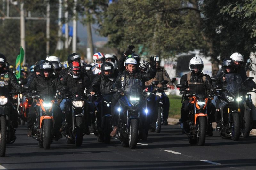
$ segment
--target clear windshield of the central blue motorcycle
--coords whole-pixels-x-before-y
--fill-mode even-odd
[[[140,79],[131,78],[129,79],[125,91],[128,95],[140,95],[142,93],[142,82]]]

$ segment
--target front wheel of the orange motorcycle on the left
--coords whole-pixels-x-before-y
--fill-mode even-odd
[[[50,149],[52,143],[52,119],[45,119],[43,128],[44,149]]]

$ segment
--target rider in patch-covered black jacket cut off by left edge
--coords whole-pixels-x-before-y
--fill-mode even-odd
[[[5,70],[5,66],[6,66],[6,57],[0,53],[0,77],[1,77],[1,81],[0,81],[0,86],[1,87],[6,87],[10,92],[12,91],[16,91],[19,92],[20,91],[20,86],[19,83],[17,81],[17,78],[15,77],[15,75],[12,72],[9,72],[7,70]],[[10,132],[11,132],[11,139],[10,141],[13,141],[16,139],[15,136],[15,130],[14,128],[18,127],[18,112],[16,109],[14,109],[13,104],[10,102]],[[10,142],[8,141],[8,142]]]

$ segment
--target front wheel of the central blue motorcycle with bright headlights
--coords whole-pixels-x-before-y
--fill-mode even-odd
[[[138,130],[139,130],[138,119],[131,119],[130,131],[129,131],[129,148],[131,149],[135,149],[137,146],[137,142],[139,140]]]

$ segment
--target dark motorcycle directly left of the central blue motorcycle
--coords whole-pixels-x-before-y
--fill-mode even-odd
[[[90,94],[88,94],[90,95]],[[95,95],[97,96],[97,95]],[[111,100],[112,100],[112,95],[106,94],[103,95],[101,98],[101,107],[99,108],[97,103],[98,100],[95,101],[95,106],[96,106],[96,119],[95,119],[95,131],[94,135],[97,136],[98,142],[105,142],[106,144],[110,143],[110,133],[112,131],[111,127]],[[100,114],[100,115],[97,115]]]

